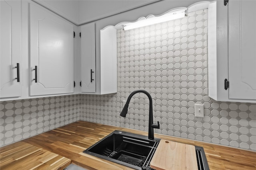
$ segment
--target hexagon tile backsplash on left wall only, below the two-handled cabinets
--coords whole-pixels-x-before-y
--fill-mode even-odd
[[[0,102],[0,146],[78,121],[80,95]]]

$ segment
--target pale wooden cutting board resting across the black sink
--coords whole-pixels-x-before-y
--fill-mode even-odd
[[[195,146],[161,139],[150,167],[156,170],[196,170]]]

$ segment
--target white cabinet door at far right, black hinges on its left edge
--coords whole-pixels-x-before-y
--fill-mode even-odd
[[[229,98],[256,100],[256,1],[228,2]]]

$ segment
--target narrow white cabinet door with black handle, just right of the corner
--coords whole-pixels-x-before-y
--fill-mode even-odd
[[[95,92],[95,23],[81,26],[81,91]]]

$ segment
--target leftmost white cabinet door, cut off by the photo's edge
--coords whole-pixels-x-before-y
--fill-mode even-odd
[[[21,84],[17,67],[21,61],[21,1],[0,1],[0,97],[19,97]]]

